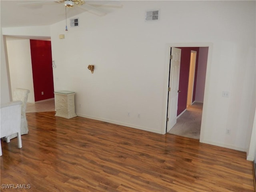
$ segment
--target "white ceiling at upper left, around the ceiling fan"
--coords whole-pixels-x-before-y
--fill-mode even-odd
[[[31,4],[31,2],[33,2]],[[94,4],[95,7],[110,11],[107,4],[110,1],[86,1],[87,4]],[[105,6],[99,6],[104,4]],[[53,0],[0,0],[1,27],[18,26],[44,26],[65,20],[64,3]],[[71,18],[82,12],[91,12],[95,14],[95,9],[89,5],[74,6],[67,8],[67,17]]]

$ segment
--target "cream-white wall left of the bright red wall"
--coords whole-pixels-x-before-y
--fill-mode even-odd
[[[30,90],[28,102],[34,103],[30,40],[6,37],[12,93],[16,88]]]

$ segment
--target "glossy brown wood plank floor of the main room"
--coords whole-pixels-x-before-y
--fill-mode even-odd
[[[22,136],[21,149],[16,138],[1,141],[1,191],[254,191],[253,163],[244,152],[54,114],[27,114],[29,134]]]

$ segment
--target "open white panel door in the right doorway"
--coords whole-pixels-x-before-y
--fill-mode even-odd
[[[181,49],[171,48],[170,56],[170,79],[169,79],[169,96],[168,96],[168,111],[167,111],[167,132],[177,122],[178,109],[178,94],[180,80],[180,56]]]

